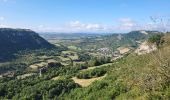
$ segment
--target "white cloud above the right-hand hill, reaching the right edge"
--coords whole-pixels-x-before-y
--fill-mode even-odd
[[[129,32],[133,30],[156,30],[164,32],[170,31],[169,23],[167,20],[164,22],[157,21],[156,23],[150,20],[150,22],[140,23],[131,18],[120,18],[117,22],[118,25],[115,25],[113,29],[117,32]]]

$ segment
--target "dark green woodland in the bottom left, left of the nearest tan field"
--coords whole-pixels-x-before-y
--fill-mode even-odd
[[[51,80],[55,76],[74,76],[79,68],[55,67],[49,69],[41,77],[34,75],[25,79],[2,78],[0,79],[0,98],[6,99],[49,99],[69,92],[79,87],[73,80],[63,78]]]

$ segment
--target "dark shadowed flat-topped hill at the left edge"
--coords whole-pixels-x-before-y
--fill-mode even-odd
[[[21,50],[53,48],[54,46],[27,29],[0,28],[0,61],[10,58],[13,53]]]

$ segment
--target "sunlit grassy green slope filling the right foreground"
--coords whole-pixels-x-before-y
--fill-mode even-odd
[[[93,100],[169,100],[170,99],[170,33],[164,43],[150,54],[129,56],[116,61],[106,78],[86,88],[65,95],[74,99]]]

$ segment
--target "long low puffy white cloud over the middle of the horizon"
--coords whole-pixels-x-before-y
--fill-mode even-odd
[[[52,31],[52,32],[67,32],[67,33],[78,33],[78,32],[92,32],[92,33],[104,33],[108,32],[108,26],[97,23],[82,23],[80,21],[70,21],[64,25],[48,27],[46,25],[39,25],[34,28],[37,31]]]

